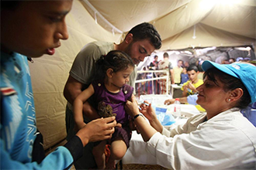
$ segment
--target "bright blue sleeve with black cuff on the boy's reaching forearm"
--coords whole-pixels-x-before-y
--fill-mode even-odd
[[[2,124],[0,124],[0,128],[2,128]],[[71,139],[71,142],[67,142],[66,145],[58,147],[55,151],[47,155],[40,164],[37,164],[36,162],[22,163],[10,158],[9,153],[4,149],[2,139],[0,139],[0,169],[67,169],[71,167],[74,161],[81,157],[82,151],[83,145],[80,138],[74,136],[74,138]]]

